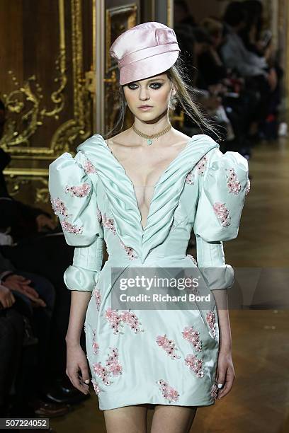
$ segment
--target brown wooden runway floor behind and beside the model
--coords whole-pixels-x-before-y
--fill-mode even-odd
[[[226,262],[284,269],[289,263],[289,139],[254,146],[249,170],[251,190],[239,236],[225,244]],[[288,433],[289,309],[234,309],[230,321],[234,386],[215,405],[198,409],[191,432]],[[149,410],[148,425],[152,415]],[[92,389],[85,404],[50,425],[57,433],[106,432]]]

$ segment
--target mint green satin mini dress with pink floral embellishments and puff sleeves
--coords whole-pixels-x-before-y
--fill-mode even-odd
[[[65,152],[50,164],[49,190],[65,239],[75,247],[64,282],[91,292],[84,330],[99,409],[214,404],[215,301],[207,309],[132,310],[112,308],[111,296],[117,277],[133,267],[213,268],[218,272],[203,277],[208,291],[232,287],[222,241],[239,231],[249,192],[246,158],[222,154],[205,134],[191,137],[155,185],[145,229],[133,184],[100,134],[80,144],[75,157]],[[186,254],[192,229],[196,258]],[[102,267],[103,242],[108,260]]]

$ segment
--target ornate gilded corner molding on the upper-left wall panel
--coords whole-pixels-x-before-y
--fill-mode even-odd
[[[68,4],[71,8],[72,22],[70,37],[72,43],[73,118],[56,126],[47,146],[39,147],[31,144],[31,138],[38,132],[38,129],[45,125],[45,119],[60,120],[67,107],[65,7]],[[70,0],[69,2],[58,0],[59,53],[55,60],[54,79],[57,88],[50,95],[52,102],[50,108],[42,103],[43,89],[35,74],[28,77],[20,85],[13,71],[8,71],[16,89],[2,96],[8,112],[8,119],[4,135],[0,140],[0,146],[8,151],[12,157],[22,154],[23,160],[25,160],[31,156],[42,154],[47,158],[55,159],[62,151],[74,151],[74,142],[79,136],[85,139],[91,134],[91,89],[86,88],[87,79],[83,64],[82,6],[81,0]]]

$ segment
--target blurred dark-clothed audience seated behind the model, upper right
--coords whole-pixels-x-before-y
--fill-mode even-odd
[[[218,139],[222,151],[238,151],[249,160],[260,139],[278,137],[280,123],[283,71],[271,31],[263,28],[261,1],[232,1],[222,18],[197,22],[187,2],[176,0],[174,30],[196,101],[220,127],[219,137],[205,133]],[[184,132],[200,132],[186,115]]]

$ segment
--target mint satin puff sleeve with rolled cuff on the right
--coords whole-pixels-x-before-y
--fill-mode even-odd
[[[212,149],[203,159],[193,224],[197,262],[200,268],[210,268],[205,272],[210,289],[228,289],[234,284],[234,270],[225,262],[223,241],[238,235],[250,187],[248,161],[238,152],[222,154],[219,149]]]

